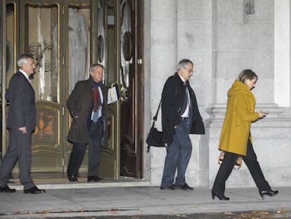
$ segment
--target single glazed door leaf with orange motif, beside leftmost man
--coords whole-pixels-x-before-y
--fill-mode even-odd
[[[32,135],[32,172],[63,173],[63,49],[58,1],[20,1],[20,51],[34,56],[32,87],[37,127]]]

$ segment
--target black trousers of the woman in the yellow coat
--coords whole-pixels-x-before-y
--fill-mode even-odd
[[[224,195],[226,189],[226,180],[233,171],[233,165],[235,165],[238,154],[233,154],[230,152],[225,152],[224,161],[221,163],[219,171],[214,180],[212,191],[220,195]],[[250,139],[247,142],[247,155],[243,156],[243,161],[247,165],[247,168],[250,170],[250,174],[254,180],[254,183],[257,185],[259,192],[261,191],[270,191],[271,187],[269,183],[265,180],[264,174],[261,171],[259,162],[257,161],[257,156],[254,153],[252,143]]]

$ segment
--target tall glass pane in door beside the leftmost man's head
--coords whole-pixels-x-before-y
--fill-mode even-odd
[[[36,100],[59,103],[58,5],[25,6],[25,51],[35,58],[32,85]]]

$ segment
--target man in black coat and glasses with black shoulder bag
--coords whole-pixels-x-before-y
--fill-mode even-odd
[[[205,127],[188,81],[192,73],[192,61],[182,59],[177,72],[167,79],[162,91],[162,131],[168,146],[160,189],[193,190],[185,180],[192,153],[189,133],[205,134]]]

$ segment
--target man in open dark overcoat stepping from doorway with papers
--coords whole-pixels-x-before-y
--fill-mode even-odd
[[[72,115],[72,124],[67,140],[72,142],[70,161],[67,165],[67,178],[77,181],[86,146],[89,144],[88,182],[98,182],[101,147],[106,146],[105,123],[107,112],[108,88],[103,85],[103,65],[93,64],[90,67],[89,80],[77,82],[67,99],[67,108]]]

